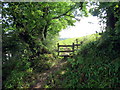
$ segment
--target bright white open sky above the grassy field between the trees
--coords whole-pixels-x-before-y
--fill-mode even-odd
[[[99,19],[95,16],[82,17],[80,21],[75,23],[75,26],[70,26],[62,30],[59,35],[60,38],[81,37],[100,31]]]

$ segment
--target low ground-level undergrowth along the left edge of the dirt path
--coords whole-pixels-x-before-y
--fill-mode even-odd
[[[52,54],[43,54],[30,62],[27,58],[9,60],[3,64],[3,89],[30,88],[36,82],[36,75],[49,70],[59,60]],[[32,66],[31,66],[32,65]]]

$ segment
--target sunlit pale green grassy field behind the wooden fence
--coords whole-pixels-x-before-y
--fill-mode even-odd
[[[77,44],[76,39],[78,39],[78,44],[80,44],[81,41],[83,42],[83,44],[78,47],[78,49],[80,49],[81,47],[83,47],[87,43],[96,41],[99,37],[100,37],[99,34],[91,34],[91,35],[78,37],[78,38],[69,38],[69,39],[65,39],[65,40],[59,40],[57,43],[59,43],[59,45],[72,45],[73,43]],[[74,49],[77,49],[77,47],[75,47]],[[56,44],[56,50],[57,50],[57,44]],[[67,48],[60,47],[59,50],[61,50],[61,51],[72,50],[72,47],[67,47]],[[62,55],[62,54],[68,54],[68,53],[65,53],[65,52],[60,53],[60,55]],[[72,54],[72,53],[69,53],[69,54]],[[56,55],[57,55],[57,53],[56,53]]]

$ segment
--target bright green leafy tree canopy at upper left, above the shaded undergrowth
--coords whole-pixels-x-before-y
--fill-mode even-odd
[[[38,50],[47,37],[53,38],[67,25],[74,25],[77,8],[78,3],[73,2],[3,3],[3,37],[14,37],[17,43],[23,42],[33,54],[37,53],[35,47]]]

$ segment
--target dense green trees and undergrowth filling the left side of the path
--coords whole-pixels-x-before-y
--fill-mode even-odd
[[[25,77],[35,71],[37,63],[43,67],[47,61],[43,54],[52,53],[60,30],[74,25],[75,11],[82,4],[2,3],[3,88],[29,87]]]

